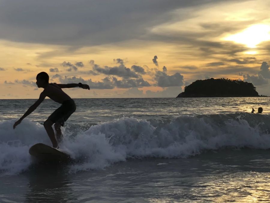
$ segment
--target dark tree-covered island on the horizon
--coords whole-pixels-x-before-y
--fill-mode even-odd
[[[259,96],[252,83],[225,78],[196,80],[177,97],[267,97]]]

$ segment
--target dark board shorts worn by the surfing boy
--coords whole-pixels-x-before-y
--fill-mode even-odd
[[[66,100],[52,113],[52,115],[49,116],[48,119],[53,123],[60,123],[61,126],[64,126],[64,122],[70,117],[71,114],[73,114],[75,110],[76,104],[74,100]]]

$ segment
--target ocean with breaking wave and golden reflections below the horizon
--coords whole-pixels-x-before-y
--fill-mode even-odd
[[[270,97],[74,100],[66,165],[28,152],[60,104],[0,100],[0,202],[270,202]]]

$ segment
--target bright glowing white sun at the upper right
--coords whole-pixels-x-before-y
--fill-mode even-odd
[[[242,32],[225,37],[224,40],[244,44],[248,48],[256,48],[259,43],[270,40],[270,25],[252,25]]]

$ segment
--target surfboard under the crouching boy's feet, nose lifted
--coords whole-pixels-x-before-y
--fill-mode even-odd
[[[29,154],[42,161],[70,161],[70,155],[52,148],[46,144],[38,143],[30,147]]]

